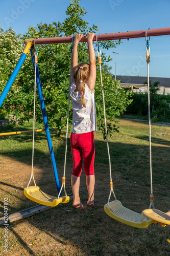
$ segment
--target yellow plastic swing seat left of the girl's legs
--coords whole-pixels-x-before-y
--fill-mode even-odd
[[[57,206],[59,203],[69,202],[69,196],[59,197],[58,199],[57,197],[53,197],[44,193],[38,186],[30,186],[28,188],[26,187],[23,189],[23,193],[27,198],[38,204],[51,207]]]

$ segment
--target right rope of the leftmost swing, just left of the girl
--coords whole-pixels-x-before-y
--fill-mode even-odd
[[[65,168],[66,168],[66,158],[67,158],[68,115],[69,115],[69,104],[70,104],[70,86],[71,86],[70,82],[71,82],[71,72],[72,72],[72,48],[73,48],[73,42],[72,42],[72,46],[71,46],[71,68],[70,68],[70,76],[69,76],[69,94],[68,94],[66,138],[65,138],[64,172],[63,172],[63,178],[62,178],[62,186],[61,186],[60,192],[58,194],[58,199],[60,197],[63,187],[64,187],[65,196],[67,196],[67,193],[65,190]]]

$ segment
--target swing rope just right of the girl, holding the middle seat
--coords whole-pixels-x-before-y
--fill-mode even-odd
[[[103,96],[103,109],[104,109],[104,119],[105,119],[105,131],[106,131],[106,142],[107,142],[107,151],[108,151],[108,158],[109,158],[109,171],[110,171],[110,194],[109,194],[109,198],[108,198],[108,204],[110,202],[110,197],[111,194],[113,193],[113,196],[116,199],[116,196],[114,194],[114,190],[113,190],[113,182],[112,182],[112,175],[111,175],[111,161],[110,161],[110,152],[109,152],[109,142],[108,142],[108,137],[107,137],[107,122],[106,122],[106,111],[105,111],[105,97],[104,97],[104,89],[103,89],[103,79],[102,79],[102,67],[101,67],[101,63],[102,63],[102,58],[101,58],[101,50],[100,50],[100,46],[98,43],[98,63],[100,66],[100,76],[101,76],[101,86],[102,86],[102,96]]]

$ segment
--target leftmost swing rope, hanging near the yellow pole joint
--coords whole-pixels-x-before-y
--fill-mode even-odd
[[[30,182],[33,178],[34,185],[36,186],[35,179],[34,179],[34,135],[35,135],[35,98],[36,98],[36,78],[37,78],[37,63],[38,63],[38,52],[37,47],[35,50],[35,40],[34,40],[34,55],[35,55],[35,76],[34,76],[34,114],[33,114],[33,147],[32,147],[32,168],[31,168],[31,178],[27,185],[27,188],[30,185]]]

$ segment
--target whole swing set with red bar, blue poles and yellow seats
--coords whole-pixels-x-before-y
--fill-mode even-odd
[[[100,75],[101,75],[101,86],[102,86],[102,95],[103,95],[103,105],[104,105],[104,119],[105,119],[105,129],[106,129],[106,140],[107,140],[107,150],[108,150],[108,158],[109,158],[109,171],[110,171],[110,194],[108,198],[108,203],[105,204],[104,209],[108,216],[111,218],[122,222],[124,224],[137,227],[137,228],[146,228],[150,224],[158,223],[160,222],[162,226],[166,226],[167,224],[170,225],[170,212],[162,212],[160,210],[155,209],[154,207],[154,196],[153,196],[153,187],[152,187],[152,150],[151,150],[151,118],[150,118],[150,87],[149,87],[149,62],[150,62],[150,47],[149,47],[149,39],[147,37],[151,36],[159,36],[159,35],[170,35],[170,27],[168,28],[160,28],[160,29],[149,29],[149,30],[139,30],[139,31],[128,31],[128,32],[119,32],[119,33],[110,33],[110,34],[100,34],[96,35],[93,38],[93,41],[96,41],[96,45],[98,46],[98,62],[100,65]],[[98,41],[101,40],[120,40],[120,39],[128,39],[129,38],[139,38],[139,37],[145,37],[147,41],[147,67],[148,67],[148,111],[149,111],[149,139],[150,139],[150,173],[151,173],[151,195],[150,195],[150,207],[149,209],[145,209],[142,211],[142,214],[139,214],[138,212],[132,211],[122,205],[120,201],[116,199],[116,196],[114,194],[113,190],[113,182],[112,182],[112,172],[111,172],[111,161],[110,161],[110,153],[109,153],[109,143],[107,138],[107,124],[106,124],[106,114],[105,114],[105,100],[104,100],[104,88],[103,88],[103,82],[102,82],[102,70],[101,70],[101,50],[100,50],[100,43]],[[81,41],[86,41],[85,36],[81,39]],[[25,132],[15,132],[15,133],[3,133],[2,135],[10,135],[10,134],[21,134],[26,132],[33,132],[33,150],[32,150],[32,168],[31,168],[31,178],[29,180],[28,186],[24,189],[23,193],[27,198],[30,200],[37,202],[42,205],[46,206],[57,206],[59,203],[67,203],[69,201],[69,196],[66,194],[65,190],[65,167],[66,167],[66,153],[67,153],[67,134],[68,134],[68,111],[67,111],[67,129],[66,129],[66,147],[65,147],[65,160],[64,160],[64,172],[63,172],[63,178],[62,178],[62,186],[60,187],[58,173],[57,173],[57,167],[56,167],[56,161],[54,157],[54,151],[52,146],[52,140],[50,136],[50,130],[48,127],[47,117],[46,117],[46,111],[45,111],[45,104],[42,94],[42,87],[41,87],[41,81],[40,81],[40,75],[38,70],[38,52],[37,52],[37,46],[40,44],[57,44],[57,43],[70,43],[72,42],[73,45],[73,37],[52,37],[52,38],[31,38],[25,40],[25,50],[23,51],[9,81],[7,82],[7,85],[0,96],[0,107],[6,98],[13,81],[15,80],[23,62],[25,61],[27,55],[29,52],[31,52],[32,61],[33,61],[33,67],[35,72],[35,82],[34,82],[34,116],[33,116],[33,131],[25,131]],[[72,57],[72,56],[71,56]],[[72,67],[72,65],[71,65]],[[70,71],[71,74],[71,71]],[[41,112],[44,122],[44,129],[46,133],[46,138],[48,142],[48,148],[50,151],[50,156],[52,160],[52,166],[56,181],[56,186],[58,190],[58,196],[53,197],[46,193],[44,193],[39,186],[36,185],[35,179],[34,179],[34,133],[37,131],[42,130],[35,130],[35,96],[36,96],[36,84],[38,89],[38,95],[41,105]],[[70,85],[70,81],[69,81]],[[69,97],[70,100],[70,97]],[[68,110],[69,110],[69,101],[68,101]],[[29,186],[31,180],[34,181],[34,186]],[[65,196],[62,196],[61,190],[64,188]],[[111,194],[113,194],[115,200],[110,202]],[[153,207],[151,209],[151,207]]]

